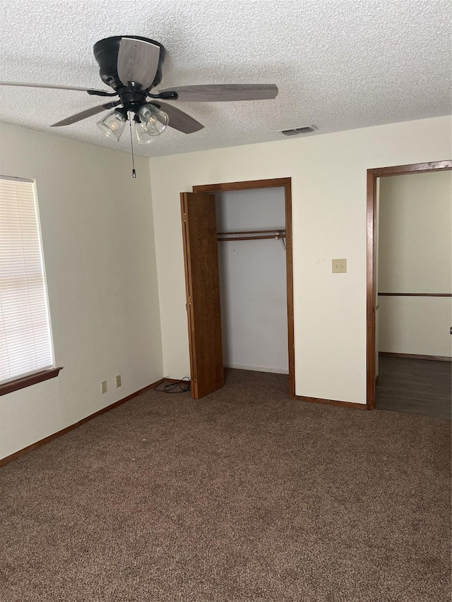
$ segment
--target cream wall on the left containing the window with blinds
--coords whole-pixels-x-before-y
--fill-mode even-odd
[[[124,152],[0,125],[0,174],[37,181],[54,350],[64,366],[57,378],[0,397],[0,457],[162,377],[149,163],[135,161],[132,179]]]

